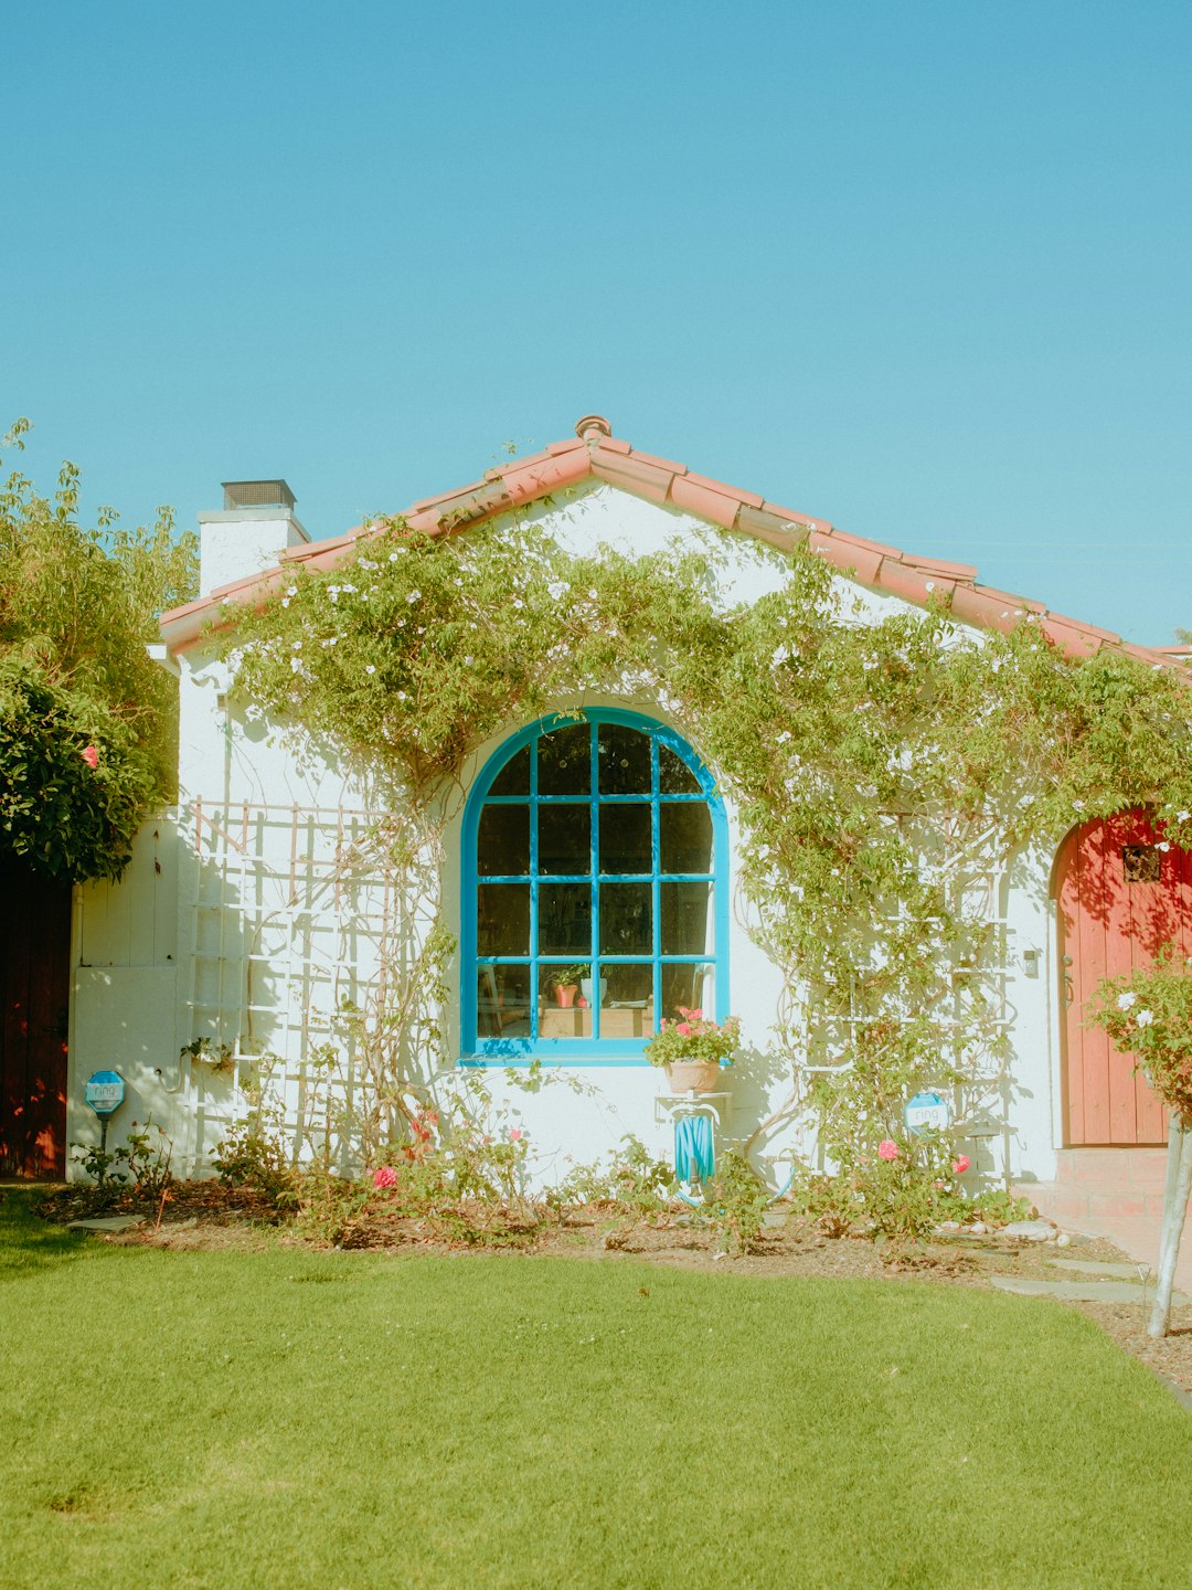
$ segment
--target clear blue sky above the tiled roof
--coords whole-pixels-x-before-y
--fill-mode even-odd
[[[1132,639],[1192,626],[1192,6],[8,6],[0,418],[315,536],[598,410]],[[0,425],[3,429],[3,425]]]

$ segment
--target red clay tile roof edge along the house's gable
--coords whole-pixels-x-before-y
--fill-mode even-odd
[[[898,547],[834,529],[823,518],[769,502],[755,491],[709,480],[707,475],[699,475],[671,458],[658,458],[618,440],[612,436],[607,420],[599,415],[585,415],[575,431],[574,440],[551,442],[531,458],[517,458],[499,469],[488,469],[482,480],[467,487],[421,498],[401,517],[415,529],[448,536],[553,491],[602,480],[633,496],[671,504],[725,529],[755,536],[784,550],[806,542],[812,552],[873,590],[922,606],[946,596],[950,611],[965,623],[1008,631],[1030,612],[1036,615],[1043,633],[1068,657],[1090,657],[1109,646],[1141,661],[1186,671],[1187,649],[1160,650],[1133,646],[1111,630],[1098,630],[1079,619],[1049,612],[1043,603],[1027,596],[1012,596],[990,585],[979,585],[977,571],[969,563],[917,558],[909,552],[900,552]],[[264,595],[286,579],[286,569],[292,564],[332,569],[351,556],[358,541],[377,533],[377,526],[361,525],[334,541],[292,547],[277,569],[223,585],[210,596],[200,596],[184,607],[162,614],[162,636],[175,650],[191,646],[216,617],[221,603],[229,598],[248,601]]]

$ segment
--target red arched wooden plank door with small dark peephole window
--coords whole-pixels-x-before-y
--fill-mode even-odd
[[[1192,954],[1192,852],[1159,849],[1143,812],[1086,822],[1057,857],[1063,1138],[1071,1146],[1167,1142],[1167,1113],[1084,1013],[1100,978],[1149,962],[1162,944]]]

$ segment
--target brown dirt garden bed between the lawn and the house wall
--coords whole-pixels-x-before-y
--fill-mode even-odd
[[[251,1251],[277,1243],[321,1245],[318,1237],[304,1234],[280,1215],[264,1194],[224,1188],[218,1181],[175,1183],[165,1202],[124,1192],[102,1210],[97,1208],[92,1188],[59,1188],[38,1199],[37,1212],[54,1224],[97,1216],[135,1218],[140,1224],[97,1232],[103,1240],[129,1247]],[[779,1212],[772,1212],[774,1223],[763,1231],[757,1250],[742,1256],[720,1251],[715,1235],[702,1226],[699,1216],[682,1207],[628,1220],[610,1205],[588,1205],[569,1208],[545,1224],[520,1224],[509,1212],[490,1212],[485,1216],[488,1231],[480,1237],[475,1232],[478,1212],[470,1213],[472,1229],[464,1237],[453,1234],[450,1218],[412,1218],[383,1207],[369,1208],[346,1221],[342,1240],[335,1245],[369,1251],[550,1256],[604,1262],[628,1258],[757,1277],[798,1275],[887,1283],[930,1280],[976,1288],[992,1286],[995,1275],[1035,1282],[1071,1280],[1071,1272],[1057,1262],[1065,1259],[1079,1259],[1089,1266],[1130,1264],[1125,1253],[1100,1237],[1071,1235],[1063,1248],[1055,1242],[1030,1242],[998,1234],[949,1235],[904,1247],[879,1247],[868,1239],[826,1237],[814,1223],[801,1223],[795,1216],[779,1223]],[[1146,1334],[1152,1297],[1151,1277],[1144,1297],[1140,1293],[1138,1301],[1070,1301],[1063,1307],[1087,1313],[1127,1353],[1192,1396],[1192,1304],[1173,1309],[1171,1332],[1155,1342]]]

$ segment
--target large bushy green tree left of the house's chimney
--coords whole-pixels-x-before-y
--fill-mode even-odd
[[[89,529],[78,496],[70,463],[52,499],[16,471],[0,487],[0,852],[72,882],[119,876],[173,793],[176,690],[146,642],[197,572],[168,509],[151,529],[100,509]]]

